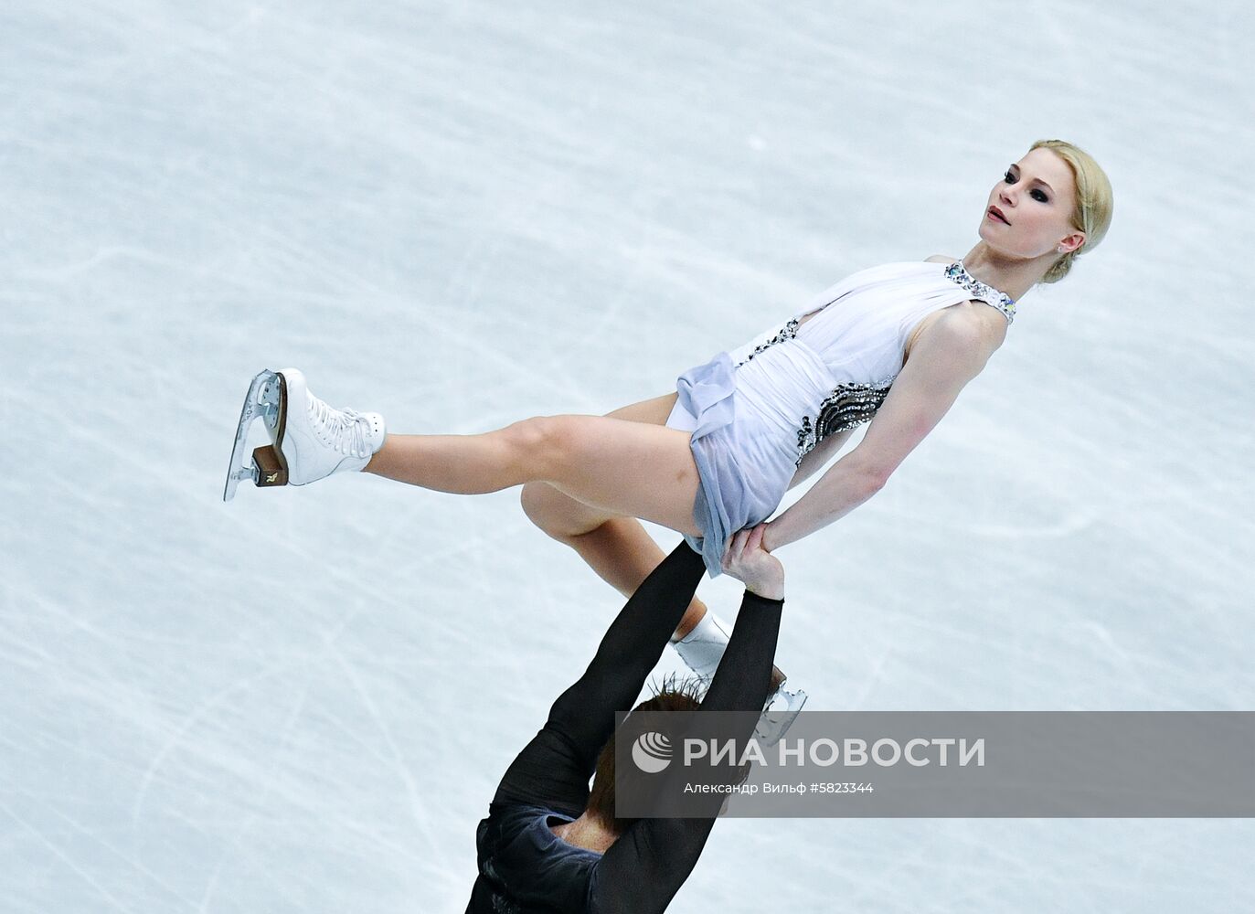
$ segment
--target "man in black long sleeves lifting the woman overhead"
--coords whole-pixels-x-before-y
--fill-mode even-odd
[[[757,712],[767,697],[784,569],[762,549],[762,527],[737,534],[724,559],[724,569],[745,581],[745,596],[702,713]],[[722,797],[712,796],[702,819],[616,816],[611,736],[615,711],[640,693],[703,570],[699,554],[683,542],[676,546],[628,600],[587,670],[558,697],[545,727],[506,771],[476,834],[479,875],[467,914],[648,914],[665,910],[688,879]],[[689,711],[697,704],[683,692],[664,692],[636,709]],[[744,732],[733,737],[737,745],[749,739],[753,716],[747,718]],[[684,778],[693,776],[683,771]],[[710,773],[720,783],[739,777],[734,771]]]

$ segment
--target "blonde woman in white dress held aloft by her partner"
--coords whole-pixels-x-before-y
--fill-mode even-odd
[[[1111,185],[1077,147],[1040,141],[989,192],[963,260],[886,264],[816,298],[783,326],[680,375],[676,392],[607,417],[550,416],[473,436],[389,434],[333,409],[300,372],[262,372],[245,402],[225,497],[240,478],[304,485],[366,470],[443,492],[522,485],[523,508],[622,594],[661,559],[635,519],[684,534],[712,575],[729,537],[766,521],[856,426],[858,447],[767,525],[768,551],[842,517],[885,485],[1001,345],[1019,299],[1093,249]],[[261,416],[271,446],[242,462]],[[727,626],[694,600],[676,648],[709,675]]]

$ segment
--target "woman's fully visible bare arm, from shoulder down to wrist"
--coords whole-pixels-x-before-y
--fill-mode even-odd
[[[801,540],[878,492],[941,421],[964,385],[980,374],[1004,335],[1005,328],[983,314],[944,311],[915,341],[858,447],[767,526],[764,547],[771,551]]]

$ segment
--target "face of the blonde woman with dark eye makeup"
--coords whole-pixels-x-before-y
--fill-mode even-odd
[[[1081,246],[1072,226],[1076,182],[1068,163],[1045,148],[1033,149],[994,185],[980,220],[980,237],[1013,257],[1040,257]]]

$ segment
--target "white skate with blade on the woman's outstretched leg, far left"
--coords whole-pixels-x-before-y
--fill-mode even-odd
[[[245,442],[261,419],[270,444],[255,448],[243,463]],[[309,392],[295,368],[262,372],[252,379],[236,428],[231,468],[222,492],[231,501],[240,480],[257,486],[304,486],[338,472],[361,470],[384,443],[379,413],[334,409]]]

